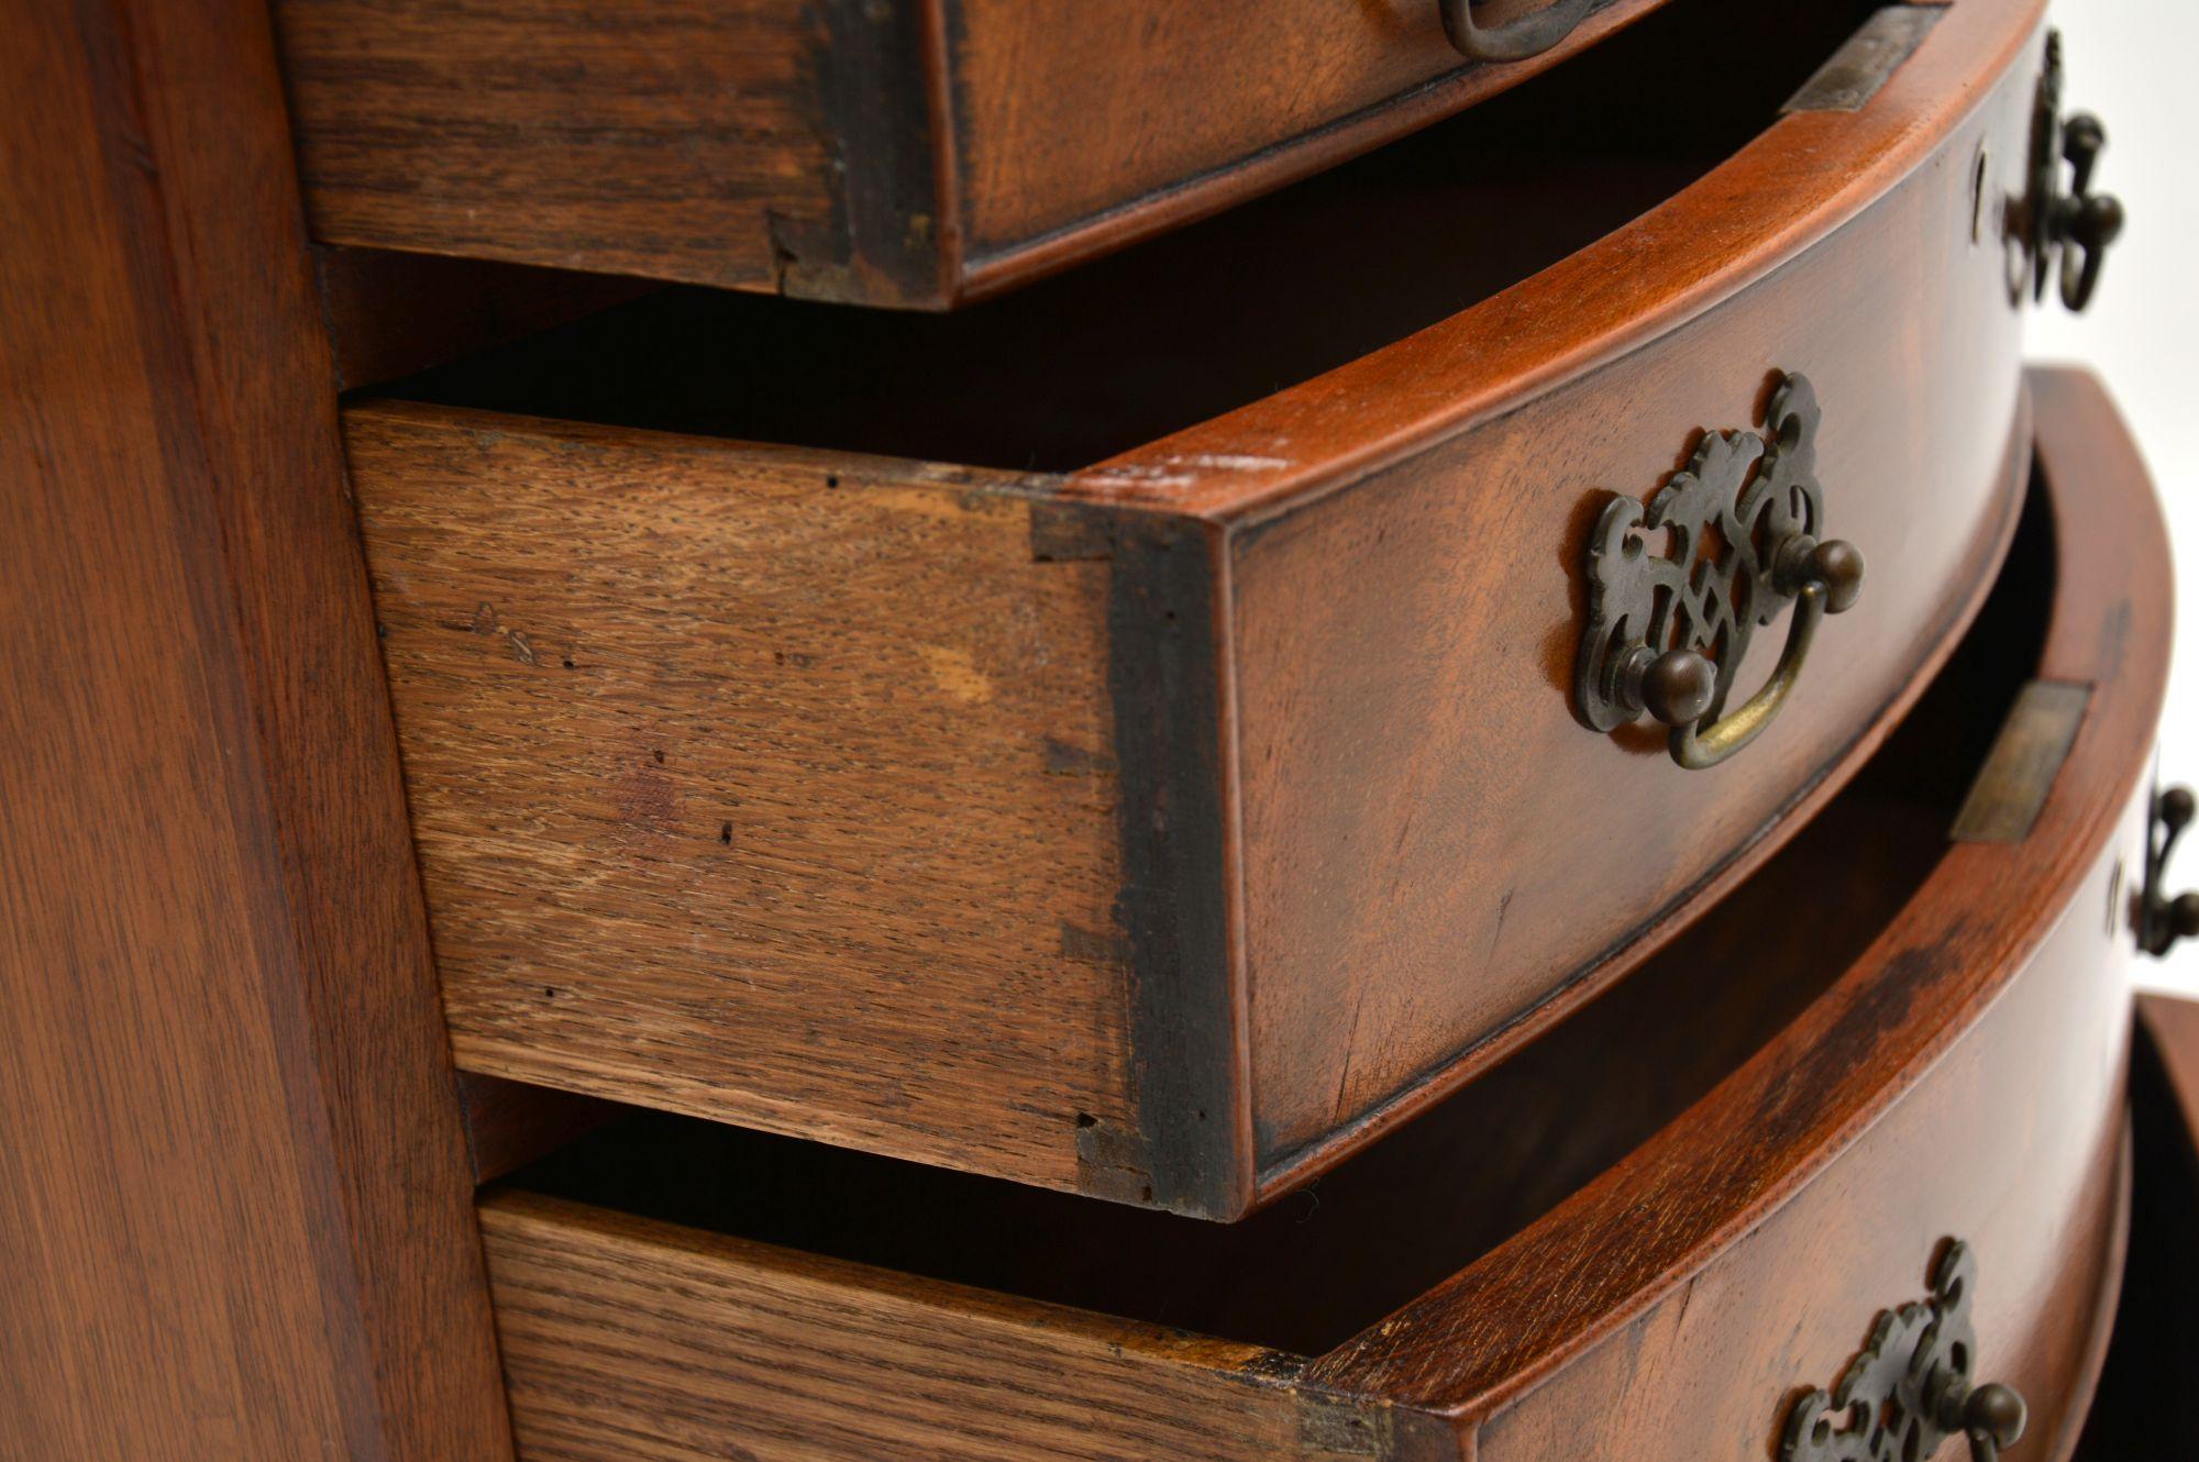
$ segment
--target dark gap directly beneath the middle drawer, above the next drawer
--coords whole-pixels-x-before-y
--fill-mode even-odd
[[[1520,1231],[1764,1046],[1931,875],[2038,662],[2032,490],[1977,624],[1869,765],[1665,952],[1434,1112],[1236,1225],[638,1112],[510,1185],[1319,1354]]]

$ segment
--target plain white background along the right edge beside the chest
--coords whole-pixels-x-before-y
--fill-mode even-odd
[[[2041,306],[2034,361],[2096,369],[2153,466],[2177,547],[2177,660],[2162,719],[2162,780],[2199,787],[2199,4],[2056,0],[2065,110],[2107,123],[2096,189],[2122,198],[2129,226],[2109,251],[2085,314]],[[2199,829],[2177,853],[2173,890],[2199,888]],[[2199,994],[2199,941],[2137,978]]]

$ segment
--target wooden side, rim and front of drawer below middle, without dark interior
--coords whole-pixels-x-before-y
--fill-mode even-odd
[[[1728,956],[1746,961],[1757,985],[1816,994],[1766,1044],[1733,1051],[1722,1079],[1577,1194],[1524,1216],[1480,1260],[1308,1361],[1271,1345],[1273,1321],[1223,1319],[1163,1341],[1106,1319],[1104,1304],[1071,1310],[1020,1299],[1016,1286],[928,1277],[961,1227],[990,1222],[994,1205],[1020,1207],[1020,1189],[972,1185],[968,1209],[919,1225],[893,1216],[891,1163],[851,1159],[873,1163],[877,1187],[811,1187],[866,1194],[866,1225],[836,1211],[818,1233],[844,1244],[853,1229],[873,1229],[884,1238],[871,1242],[891,1240],[902,1258],[895,1273],[611,1211],[638,1192],[618,1178],[631,1172],[622,1163],[605,1170],[611,1181],[596,1203],[576,1200],[570,1181],[563,1196],[528,1192],[521,1174],[486,1200],[484,1222],[506,1356],[523,1376],[523,1451],[596,1460],[642,1447],[686,1458],[708,1438],[754,1458],[882,1447],[1238,1455],[1256,1444],[1269,1455],[1412,1462],[1748,1462],[1775,1447],[1801,1389],[1838,1376],[1882,1308],[1926,1291],[1942,1240],[1964,1238],[1979,1262],[1979,1376],[2025,1394],[2025,1447],[2067,1455],[2102,1367],[2122,1266],[2129,987],[2118,970],[2131,948],[2137,794],[2168,664],[2168,558],[2151,488],[2098,387],[2067,374],[2034,383],[2045,536],[2019,552],[1953,679],[1836,805],[1838,818],[1871,831],[1845,827],[1821,846],[1902,849],[1847,860],[1860,895],[1852,908],[1867,923],[1852,930],[1858,952],[1821,983],[1816,965],[1834,945],[1788,937],[1786,875],[1761,890],[1744,884],[1713,915],[1733,921]],[[2091,686],[2038,822],[2023,842],[1940,842],[2001,708],[2030,675]],[[1874,879],[1889,888],[1869,888]],[[1750,939],[1750,926],[1761,937]],[[1603,1035],[1623,1042],[1629,1031],[1649,1042],[1728,1040],[1724,1022],[1691,1003],[1669,1003],[1649,1029]],[[677,1145],[666,1152],[693,1172]],[[1568,1161],[1563,1145],[1548,1152]],[[1333,1181],[1350,1194],[1359,1176],[1348,1165]],[[1502,1192],[1506,1176],[1434,1163],[1377,1178],[1401,1211],[1432,1187],[1449,1203],[1451,1189],[1469,1196],[1476,1183]],[[717,1187],[719,1211],[754,1220],[745,1183]],[[1115,1284],[1124,1308],[1137,1308],[1132,1229],[1183,1220],[1124,1220],[1130,1262]],[[1300,1222],[1324,1222],[1319,1205]],[[1198,1231],[1225,1249],[1238,1233],[1258,1236],[1245,1225]],[[1443,1242],[1410,1222],[1374,1233],[1368,1249],[1383,1253],[1324,1271],[1330,1286],[1379,1273],[1388,1249]],[[1102,1266],[1115,1247],[1095,1244]],[[1289,1271],[1267,1273],[1273,1282]],[[1093,1334],[1113,1343],[1071,1339]],[[847,1400],[855,1376],[862,1405]],[[1086,1407],[1126,1381],[1150,1405]],[[1064,1422],[1073,1436],[1058,1431]]]

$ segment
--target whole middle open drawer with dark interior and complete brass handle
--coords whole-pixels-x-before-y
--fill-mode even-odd
[[[1671,196],[1407,143],[974,312],[666,292],[354,400],[460,1064],[1227,1218],[1533,1038],[1992,580],[2034,11],[1768,130],[1513,92],[1748,139]],[[1746,750],[1612,710],[1678,638],[1739,726],[1819,539],[1867,585]],[[1623,613],[1647,558],[1693,631]]]

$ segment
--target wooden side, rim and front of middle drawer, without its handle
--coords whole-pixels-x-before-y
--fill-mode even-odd
[[[1823,802],[1990,583],[2023,470],[1990,200],[2023,145],[2034,40],[2023,7],[1951,13],[1860,112],[1779,121],[1654,229],[1592,246],[1669,330],[1590,376],[1552,378],[1605,308],[1552,306],[1574,255],[1185,438],[1214,451],[1067,479],[361,407],[352,464],[460,1060],[1218,1218],[1487,1068]],[[1805,226],[1779,211],[1827,174]],[[1704,281],[1728,268],[1704,233],[1742,240],[1742,281]],[[1515,295],[1546,310],[1533,361]],[[1511,374],[1491,380],[1467,339]],[[1819,387],[1830,521],[1865,545],[1871,589],[1825,629],[1783,726],[1733,767],[1678,772],[1651,736],[1572,721],[1581,547],[1605,495],[1647,497],[1691,433],[1757,424],[1775,369]],[[1346,378],[1366,413],[1240,433],[1326,411]],[[1368,435],[1484,394],[1509,413],[1473,431]],[[763,462],[794,475],[743,495]],[[1042,508],[987,499],[983,552],[910,532],[952,514],[877,512],[904,501],[877,488],[941,470]],[[770,521],[748,517],[761,501]],[[512,532],[515,512],[576,528]],[[1040,585],[1062,598],[1042,607]],[[983,662],[972,708],[950,662],[915,664],[906,624],[943,635],[924,653]],[[1047,649],[1060,635],[1073,653]],[[616,664],[574,651],[561,673],[592,638]],[[895,686],[915,699],[888,710]],[[838,752],[838,723],[873,715],[884,741]],[[636,769],[673,743],[708,763]],[[609,789],[640,774],[699,800],[668,822],[618,811]],[[638,840],[636,818],[677,831]],[[924,875],[888,895],[897,866]],[[849,930],[877,941],[853,983],[831,954]],[[998,1046],[970,1033],[981,1014]],[[776,1031],[765,1051],[734,1016]]]

